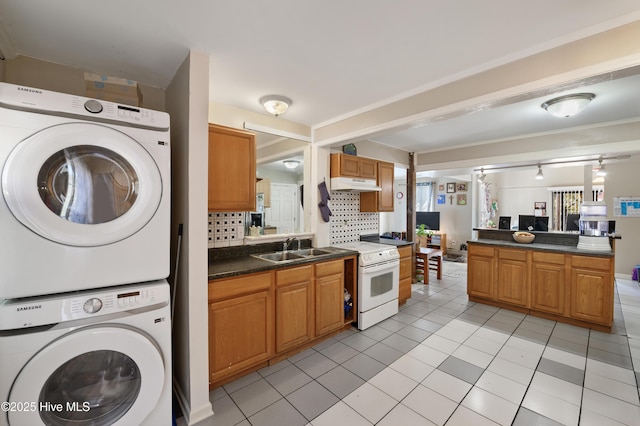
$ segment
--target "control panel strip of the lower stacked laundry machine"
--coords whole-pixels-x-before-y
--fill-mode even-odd
[[[166,280],[59,295],[7,299],[0,301],[0,331],[126,314],[138,309],[164,306],[169,301],[169,284]]]

